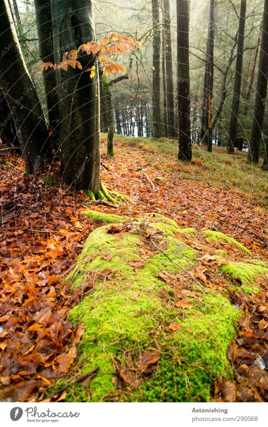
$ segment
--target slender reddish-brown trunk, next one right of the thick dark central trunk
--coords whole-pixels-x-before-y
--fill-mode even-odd
[[[213,76],[214,76],[215,0],[210,1],[209,75],[208,75],[208,151],[212,151]]]

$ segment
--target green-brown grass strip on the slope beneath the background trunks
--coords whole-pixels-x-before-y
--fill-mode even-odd
[[[152,149],[161,154],[172,155],[174,162],[176,161],[176,139],[136,138],[116,134],[115,144],[117,141],[148,151],[148,155],[144,156],[146,161],[150,161]],[[265,205],[267,173],[261,170],[261,160],[259,165],[254,165],[247,161],[246,152],[235,150],[235,154],[227,154],[226,147],[213,147],[213,152],[209,153],[205,146],[193,145],[192,152],[191,162],[180,162],[180,177],[242,191],[256,199],[260,205]]]

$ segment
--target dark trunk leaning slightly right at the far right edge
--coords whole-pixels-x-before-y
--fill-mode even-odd
[[[258,63],[258,77],[255,95],[253,122],[249,143],[248,160],[258,163],[259,143],[262,134],[263,117],[266,106],[268,75],[268,0],[264,0],[263,25]]]

